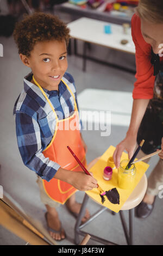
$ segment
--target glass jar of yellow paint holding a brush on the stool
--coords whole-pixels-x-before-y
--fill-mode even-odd
[[[135,184],[135,164],[131,164],[130,169],[126,170],[128,162],[129,160],[123,160],[118,167],[118,187],[124,190],[130,190]]]

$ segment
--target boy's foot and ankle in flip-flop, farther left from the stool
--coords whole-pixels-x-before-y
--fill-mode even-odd
[[[47,212],[46,213],[46,220],[47,220],[47,225],[49,228],[53,229],[49,230],[50,235],[53,237],[54,240],[62,240],[65,239],[65,230],[61,228],[61,222],[59,220],[58,214],[52,214]],[[57,231],[57,232],[55,232]],[[59,231],[59,233],[58,233]]]

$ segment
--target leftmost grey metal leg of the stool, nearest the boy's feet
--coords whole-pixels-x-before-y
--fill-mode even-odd
[[[82,206],[81,206],[81,209],[80,209],[80,212],[79,212],[79,215],[77,217],[77,222],[76,222],[76,225],[75,225],[75,228],[74,228],[74,232],[75,232],[75,243],[76,245],[79,244],[79,234],[78,234],[78,231],[79,231],[79,226],[80,226],[80,223],[82,221],[82,218],[84,216],[84,213],[85,213],[85,208],[86,208],[86,204],[87,204],[87,201],[88,201],[89,197],[87,196],[87,194],[85,193],[85,196],[84,196],[84,199],[83,199],[83,203],[82,203]]]

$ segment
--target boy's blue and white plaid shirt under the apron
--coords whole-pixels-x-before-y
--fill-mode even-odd
[[[42,179],[49,181],[60,165],[46,158],[42,151],[53,138],[56,118],[39,87],[30,82],[32,76],[30,73],[24,78],[24,89],[14,106],[17,144],[23,163]],[[77,102],[73,77],[66,72],[62,80],[70,87]],[[70,117],[74,111],[74,100],[65,84],[61,81],[58,91],[43,90],[52,102],[59,120]]]

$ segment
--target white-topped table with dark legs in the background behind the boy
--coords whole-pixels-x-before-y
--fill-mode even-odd
[[[111,26],[111,34],[104,33],[104,26]],[[126,52],[129,54],[135,54],[135,45],[131,37],[131,29],[128,29],[128,34],[123,33],[123,27],[121,25],[116,25],[113,23],[108,23],[104,21],[89,19],[87,17],[82,17],[76,21],[68,23],[68,28],[70,28],[70,35],[74,41],[74,53],[77,54],[76,40],[82,40],[84,42],[83,46],[83,70],[86,70],[86,55],[88,44],[95,44],[100,46],[105,46],[110,49]],[[122,45],[122,40],[128,40],[126,45]],[[96,60],[94,58],[94,60]],[[119,65],[113,65],[117,68],[122,68]],[[124,69],[124,68],[122,68]],[[135,70],[125,69],[126,71],[135,72]]]

